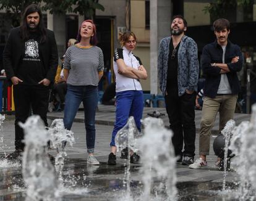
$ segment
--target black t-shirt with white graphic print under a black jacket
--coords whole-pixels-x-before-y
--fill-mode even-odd
[[[40,56],[40,35],[31,31],[30,37],[25,41],[25,54],[17,71],[17,77],[26,85],[39,86],[38,82],[46,76],[43,61]],[[40,84],[42,85],[42,84]]]

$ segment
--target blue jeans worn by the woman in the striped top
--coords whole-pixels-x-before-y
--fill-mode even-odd
[[[98,105],[98,89],[96,86],[67,85],[64,109],[64,126],[71,129],[79,105],[83,102],[85,113],[85,130],[87,152],[93,153],[95,146],[95,113]]]

